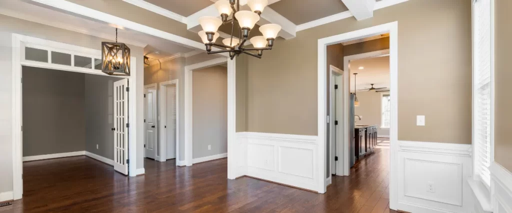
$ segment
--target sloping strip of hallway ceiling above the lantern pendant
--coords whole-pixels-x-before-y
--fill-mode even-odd
[[[112,26],[109,23],[74,14],[68,14],[62,11],[41,7],[39,5],[29,4],[22,0],[1,0],[0,14],[115,40],[115,26]],[[118,35],[119,42],[141,46],[144,48],[144,54],[150,54],[152,58],[157,59],[166,58],[178,53],[185,54],[198,50],[181,43],[130,29],[119,29]],[[100,44],[98,44],[98,46],[99,45]],[[156,51],[159,51],[160,54],[154,54]]]

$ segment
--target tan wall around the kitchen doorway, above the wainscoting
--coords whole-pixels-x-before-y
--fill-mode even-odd
[[[317,135],[318,39],[398,21],[398,139],[471,143],[471,1],[411,0],[249,58],[248,131]],[[449,104],[447,104],[449,103]],[[426,126],[416,126],[416,115]]]

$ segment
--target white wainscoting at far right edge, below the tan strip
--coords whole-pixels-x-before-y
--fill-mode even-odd
[[[494,213],[512,213],[512,173],[499,163],[490,167],[491,194]]]

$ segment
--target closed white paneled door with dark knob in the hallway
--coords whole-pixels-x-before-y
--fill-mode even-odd
[[[156,159],[157,156],[157,89],[146,87],[145,94],[145,123],[144,123],[144,157]]]

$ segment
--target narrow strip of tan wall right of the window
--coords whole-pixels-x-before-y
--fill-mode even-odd
[[[512,96],[510,96],[510,79],[512,69],[512,2],[508,0],[495,1],[495,126],[494,126],[494,158],[507,170],[512,171],[512,140],[510,127],[512,126]]]

